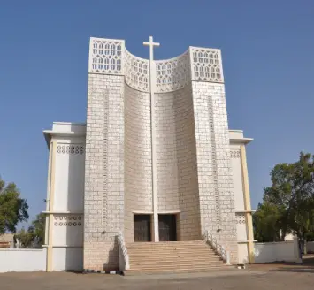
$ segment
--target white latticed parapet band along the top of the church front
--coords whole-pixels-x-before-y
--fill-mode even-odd
[[[128,86],[149,92],[149,60],[126,50],[125,41],[90,39],[89,73],[124,75]],[[217,49],[189,47],[179,57],[155,60],[156,92],[184,88],[190,81],[223,83],[221,53]]]

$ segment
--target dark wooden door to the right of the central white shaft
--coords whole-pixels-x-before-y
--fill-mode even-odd
[[[159,215],[158,224],[160,241],[177,240],[177,224],[175,215]]]

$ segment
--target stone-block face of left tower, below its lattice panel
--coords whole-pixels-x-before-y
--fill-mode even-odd
[[[124,77],[88,75],[84,268],[119,269],[124,224]]]

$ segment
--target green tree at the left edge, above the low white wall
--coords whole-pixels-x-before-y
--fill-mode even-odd
[[[28,219],[27,201],[20,197],[19,189],[14,183],[5,186],[0,178],[0,234],[16,232],[19,222]]]

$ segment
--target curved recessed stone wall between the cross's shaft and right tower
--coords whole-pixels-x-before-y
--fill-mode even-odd
[[[156,94],[158,212],[177,215],[179,240],[201,237],[192,89]]]

